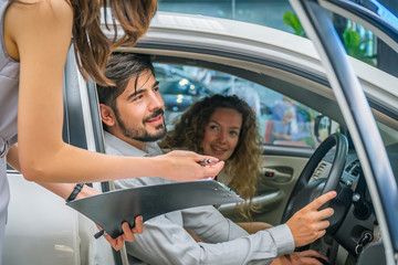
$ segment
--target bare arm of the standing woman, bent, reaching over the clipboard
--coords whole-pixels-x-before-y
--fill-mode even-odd
[[[113,157],[62,140],[63,70],[71,43],[73,12],[64,0],[12,3],[7,11],[7,51],[20,60],[19,162],[28,180],[94,182],[134,177],[193,180],[214,177],[223,163],[201,167],[207,158],[171,152],[156,158]]]

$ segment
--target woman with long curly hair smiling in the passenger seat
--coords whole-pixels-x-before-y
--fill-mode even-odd
[[[238,96],[216,94],[195,103],[175,125],[160,147],[186,149],[217,157],[226,162],[217,180],[234,190],[248,203],[240,206],[245,219],[255,211],[252,199],[259,176],[262,139],[253,110]],[[241,223],[255,233],[260,223]],[[254,227],[255,226],[255,227]]]

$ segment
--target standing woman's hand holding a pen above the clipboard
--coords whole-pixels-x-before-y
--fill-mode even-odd
[[[163,174],[159,177],[177,181],[213,179],[223,167],[223,161],[192,151],[171,151],[154,159],[166,165]]]

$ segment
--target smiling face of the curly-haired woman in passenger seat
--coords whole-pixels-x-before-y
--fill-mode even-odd
[[[205,128],[203,153],[229,159],[238,146],[241,127],[242,114],[232,108],[216,108]]]

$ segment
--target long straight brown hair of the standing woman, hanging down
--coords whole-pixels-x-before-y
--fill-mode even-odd
[[[111,53],[121,45],[134,45],[148,30],[157,9],[156,0],[69,0],[73,8],[73,44],[82,75],[90,75],[97,84],[114,85],[106,78],[104,68]],[[104,9],[106,26],[115,30],[109,40],[101,29],[101,7],[112,9],[112,18]],[[124,30],[118,38],[115,19]],[[109,20],[112,23],[109,23]]]

